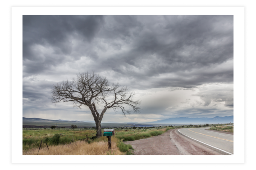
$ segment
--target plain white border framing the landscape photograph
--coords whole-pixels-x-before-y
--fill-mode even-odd
[[[133,14],[234,15],[233,156],[23,156],[22,15]],[[15,100],[14,100],[15,99]],[[181,159],[187,158],[187,159]],[[244,8],[243,7],[13,7],[12,8],[12,163],[244,163]]]

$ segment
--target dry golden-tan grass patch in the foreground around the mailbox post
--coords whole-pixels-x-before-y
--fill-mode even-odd
[[[46,146],[41,148],[39,153],[38,148],[28,151],[23,150],[23,155],[124,155],[124,153],[119,151],[115,140],[112,140],[111,151],[108,150],[108,142],[105,141],[93,142],[91,144],[78,141],[71,144],[49,146],[50,152]]]

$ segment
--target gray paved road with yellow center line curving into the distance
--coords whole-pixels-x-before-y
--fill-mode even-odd
[[[198,141],[209,144],[213,147],[217,147],[221,150],[224,150],[228,153],[234,153],[234,139],[233,135],[212,132],[209,130],[210,127],[201,127],[201,128],[184,128],[179,129],[181,133],[186,136],[189,136]]]

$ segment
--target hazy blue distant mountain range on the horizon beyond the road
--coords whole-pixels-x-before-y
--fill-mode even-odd
[[[157,120],[148,123],[229,123],[234,122],[234,116],[215,116],[214,118],[189,118],[189,117],[176,117],[169,119]]]

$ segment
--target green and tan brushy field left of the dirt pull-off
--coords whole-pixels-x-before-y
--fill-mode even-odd
[[[96,129],[25,129],[23,128],[23,155],[124,155],[132,154],[133,141],[160,135],[175,127],[115,128],[112,149],[108,150],[105,136],[94,139]],[[102,129],[103,133],[103,129]],[[42,143],[42,144],[41,144]],[[39,147],[41,148],[39,150]],[[48,146],[48,147],[47,147]],[[49,149],[48,149],[49,148]],[[39,150],[39,153],[38,153]]]

